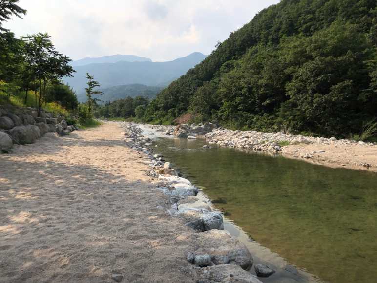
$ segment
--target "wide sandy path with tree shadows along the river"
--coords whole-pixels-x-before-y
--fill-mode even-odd
[[[193,282],[185,228],[119,123],[0,155],[0,282]]]

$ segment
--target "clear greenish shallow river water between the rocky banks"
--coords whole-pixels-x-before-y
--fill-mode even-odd
[[[226,229],[248,244],[256,262],[278,269],[264,282],[377,282],[376,173],[204,150],[204,140],[156,143],[155,152],[224,212]]]

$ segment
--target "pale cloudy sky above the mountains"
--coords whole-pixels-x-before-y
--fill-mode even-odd
[[[210,54],[217,41],[279,0],[20,0],[23,19],[4,24],[16,37],[48,33],[77,60],[133,54],[168,61]]]

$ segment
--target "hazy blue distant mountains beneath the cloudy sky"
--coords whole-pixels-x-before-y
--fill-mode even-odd
[[[70,85],[77,93],[79,101],[84,101],[86,87],[86,73],[94,76],[99,81],[101,88],[105,89],[101,97],[103,101],[111,101],[110,96],[124,98],[125,93],[115,93],[112,89],[111,95],[107,96],[106,89],[129,84],[139,84],[144,86],[165,87],[174,79],[184,75],[189,69],[203,61],[206,55],[194,52],[186,57],[177,58],[166,62],[153,62],[148,58],[133,55],[114,55],[98,58],[84,58],[72,61],[72,66],[76,70],[74,77],[65,77],[63,82]],[[132,60],[132,61],[127,61]],[[86,64],[88,63],[88,64]],[[145,90],[145,87],[142,87]],[[118,88],[118,91],[122,88]],[[134,93],[134,87],[131,88]],[[152,89],[152,93],[156,89]]]

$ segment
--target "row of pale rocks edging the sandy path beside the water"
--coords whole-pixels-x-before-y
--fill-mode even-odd
[[[125,139],[127,146],[145,154],[151,168],[147,174],[159,180],[156,189],[168,196],[170,208],[158,208],[196,232],[190,238],[195,248],[185,255],[196,271],[196,281],[261,283],[249,272],[253,258],[248,248],[223,230],[222,214],[212,211],[207,202],[198,198],[199,190],[179,176],[169,162],[164,162],[162,154],[152,153],[153,141],[143,136],[136,124],[125,124]]]

